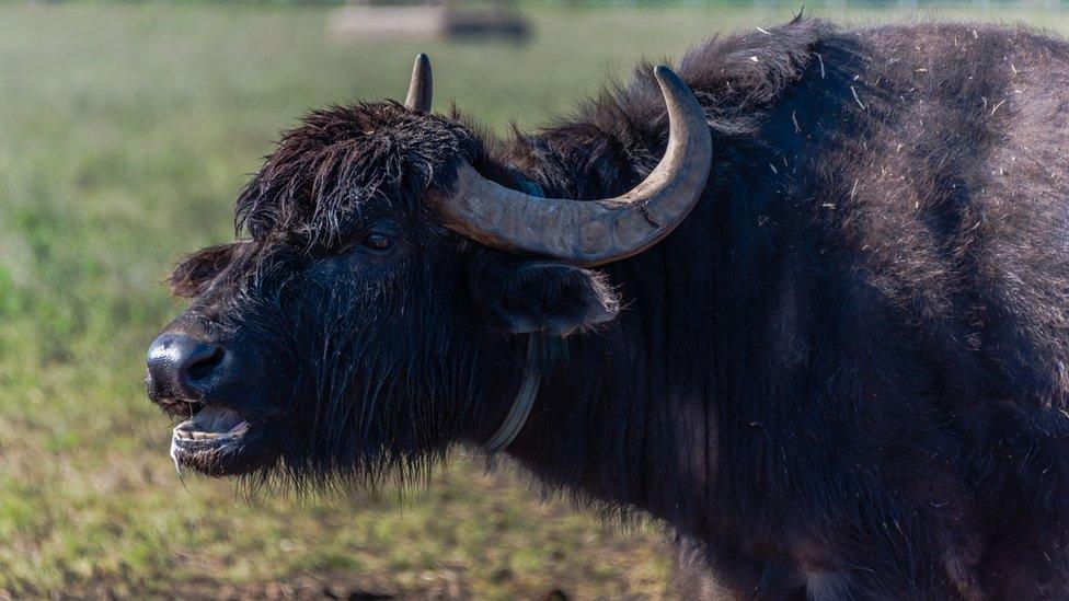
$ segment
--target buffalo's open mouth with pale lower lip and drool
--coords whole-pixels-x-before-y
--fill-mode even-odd
[[[187,466],[207,475],[232,475],[257,463],[255,428],[240,413],[221,405],[187,403],[193,417],[174,427],[171,459],[182,473]]]

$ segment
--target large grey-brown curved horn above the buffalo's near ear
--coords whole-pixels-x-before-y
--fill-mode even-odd
[[[667,67],[654,70],[668,105],[668,148],[631,192],[606,200],[540,198],[508,189],[468,163],[441,199],[446,226],[503,251],[596,266],[641,253],[668,235],[698,203],[712,162],[705,113]]]

